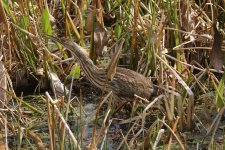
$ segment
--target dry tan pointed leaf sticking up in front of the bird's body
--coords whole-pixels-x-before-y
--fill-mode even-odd
[[[116,66],[119,61],[119,56],[120,56],[124,41],[125,41],[124,38],[122,38],[119,47],[116,49],[116,52],[114,53],[113,57],[111,58],[111,61],[109,62],[108,67],[106,69],[107,70],[107,78],[109,81],[111,81],[113,79],[114,75],[116,74]]]

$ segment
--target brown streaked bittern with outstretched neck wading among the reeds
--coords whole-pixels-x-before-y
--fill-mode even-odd
[[[113,97],[118,100],[133,100],[134,95],[150,99],[153,94],[153,84],[145,76],[126,68],[116,67],[119,52],[114,55],[108,68],[99,68],[84,54],[84,49],[73,41],[65,38],[51,37],[63,47],[71,51],[79,60],[88,80],[100,89],[112,91]],[[123,43],[123,42],[121,42]],[[122,44],[120,44],[120,49]]]

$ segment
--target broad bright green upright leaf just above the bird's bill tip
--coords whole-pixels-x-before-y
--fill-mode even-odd
[[[46,9],[44,9],[42,11],[41,23],[42,23],[42,26],[44,28],[44,32],[48,35],[51,35],[52,34],[52,27],[51,27],[51,23],[50,23],[50,16],[49,16],[49,13]]]

